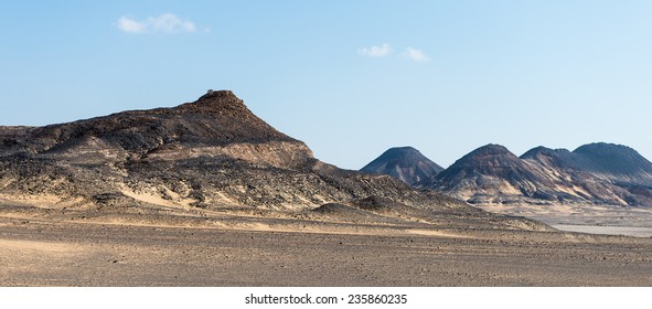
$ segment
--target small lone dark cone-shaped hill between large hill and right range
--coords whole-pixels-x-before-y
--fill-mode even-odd
[[[409,185],[415,185],[436,175],[443,168],[430,161],[411,147],[396,147],[383,152],[360,171],[388,174]]]

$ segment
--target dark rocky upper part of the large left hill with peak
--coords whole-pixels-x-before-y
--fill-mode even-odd
[[[110,147],[149,152],[164,145],[224,146],[297,140],[256,117],[232,92],[213,92],[173,108],[133,110],[29,130],[35,152],[66,150],[99,139]]]

